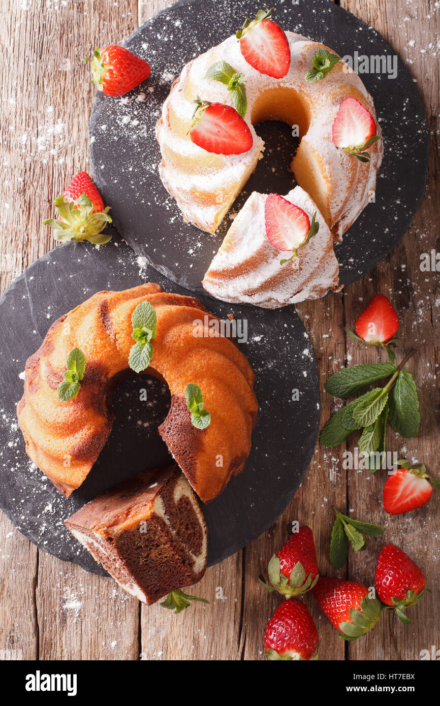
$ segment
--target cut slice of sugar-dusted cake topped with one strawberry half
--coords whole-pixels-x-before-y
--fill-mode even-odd
[[[280,264],[291,252],[276,249],[266,236],[264,206],[267,194],[249,196],[235,217],[220,249],[203,279],[203,287],[223,301],[256,304],[277,309],[304,299],[323,297],[340,289],[339,265],[333,237],[316,205],[299,186],[285,198],[302,208],[311,222],[316,212],[318,233],[297,258]]]

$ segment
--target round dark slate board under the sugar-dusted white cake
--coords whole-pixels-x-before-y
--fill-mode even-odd
[[[156,270],[196,292],[204,292],[201,280],[231,220],[226,217],[215,235],[184,223],[157,171],[155,123],[184,64],[232,35],[255,12],[254,0],[186,0],[166,8],[125,42],[148,60],[150,78],[123,98],[97,92],[90,119],[93,177],[105,203],[112,205],[119,232]],[[375,202],[335,246],[340,281],[347,285],[396,247],[422,198],[429,149],[422,104],[410,74],[379,32],[333,2],[279,0],[275,21],[327,44],[340,56],[358,52],[397,61],[396,78],[386,73],[360,76],[374,98],[385,156]],[[292,188],[287,167],[296,145],[289,126],[262,123],[258,133],[266,141],[264,159],[231,213],[237,213],[251,191],[287,193]]]

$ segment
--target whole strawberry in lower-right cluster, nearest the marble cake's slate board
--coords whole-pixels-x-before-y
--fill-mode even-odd
[[[268,574],[271,585],[260,576],[261,584],[269,592],[277,590],[287,598],[305,593],[315,585],[319,568],[310,527],[300,527],[287,539],[280,551],[270,559]]]

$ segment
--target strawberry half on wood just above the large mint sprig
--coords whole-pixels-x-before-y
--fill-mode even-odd
[[[362,311],[356,320],[355,331],[357,335],[352,333],[349,328],[345,328],[345,331],[353,340],[385,348],[388,356],[394,360],[395,355],[389,346],[396,347],[398,328],[399,317],[391,301],[383,294],[376,294],[367,309]]]

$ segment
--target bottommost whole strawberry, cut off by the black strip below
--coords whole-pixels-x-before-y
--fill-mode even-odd
[[[264,631],[268,658],[311,659],[317,646],[318,632],[304,603],[290,598],[278,606]]]

